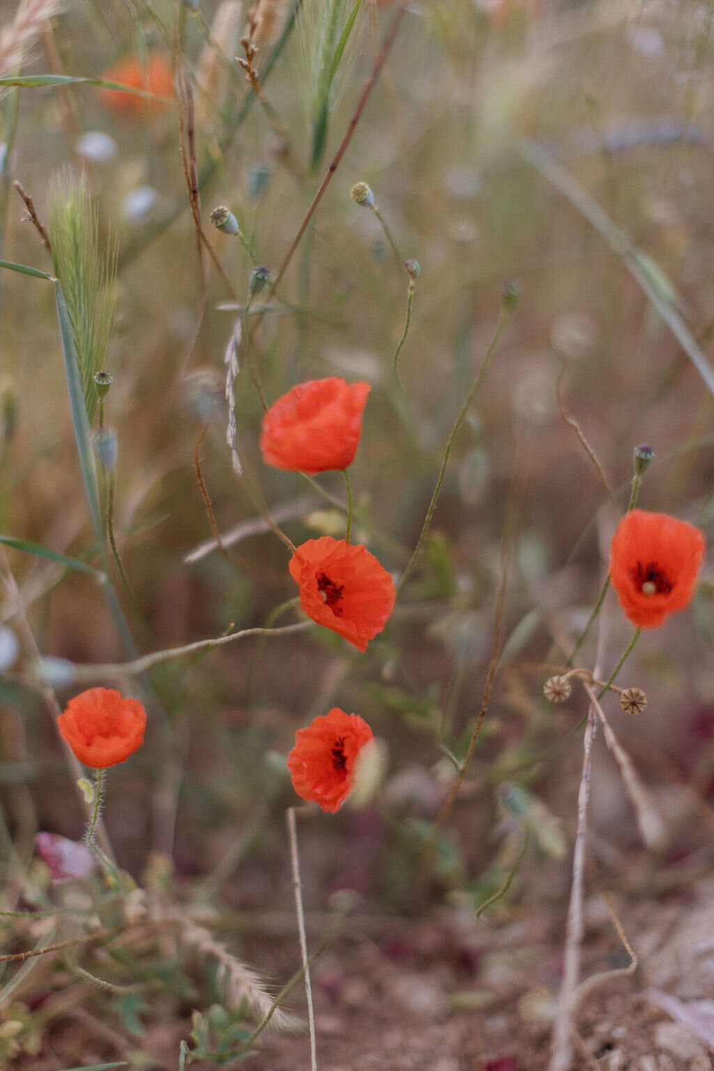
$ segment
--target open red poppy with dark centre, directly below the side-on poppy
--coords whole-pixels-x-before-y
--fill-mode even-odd
[[[394,580],[374,554],[344,539],[322,536],[297,547],[290,572],[300,605],[361,651],[381,632],[394,606]]]

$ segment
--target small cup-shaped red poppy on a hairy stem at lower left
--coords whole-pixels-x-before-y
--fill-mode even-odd
[[[70,699],[57,719],[60,735],[85,766],[103,770],[143,743],[147,712],[113,688],[90,688]]]

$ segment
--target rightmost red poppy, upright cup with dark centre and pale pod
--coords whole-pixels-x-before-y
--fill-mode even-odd
[[[610,547],[610,579],[625,617],[656,629],[684,609],[703,554],[704,537],[693,525],[666,513],[626,513]]]

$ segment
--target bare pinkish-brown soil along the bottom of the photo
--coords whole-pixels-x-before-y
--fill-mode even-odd
[[[635,972],[610,974],[583,993],[574,1068],[708,1071],[714,1068],[714,881],[658,901],[612,904],[637,952]],[[314,947],[324,916],[308,915]],[[262,919],[248,962],[274,978],[299,966],[288,912]],[[292,925],[294,921],[292,920]],[[260,927],[258,927],[260,929]],[[561,905],[476,921],[453,906],[430,918],[355,915],[313,971],[318,1067],[329,1071],[541,1071],[548,1065],[562,969]],[[273,936],[269,936],[272,932]],[[629,956],[603,899],[586,905],[583,977],[626,968]],[[288,1005],[304,1014],[300,984]],[[154,1016],[152,1016],[153,1019]],[[107,1016],[103,1017],[103,1024]],[[124,1059],[172,1071],[188,1020],[152,1023],[136,1047],[74,1010],[41,1056],[17,1071],[59,1071]],[[193,1065],[214,1068],[203,1061]],[[308,1071],[307,1032],[263,1037],[245,1071]]]

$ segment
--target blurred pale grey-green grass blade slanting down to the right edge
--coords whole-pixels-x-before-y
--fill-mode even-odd
[[[656,308],[680,346],[687,355],[695,368],[703,379],[708,389],[714,394],[714,368],[704,357],[697,340],[684,322],[671,300],[655,286],[651,272],[647,270],[647,261],[629,239],[610,220],[606,212],[595,201],[573,176],[558,161],[534,141],[519,138],[514,148],[541,175],[547,179],[578,212],[594,227],[601,238],[607,242],[612,252],[620,257],[623,265],[636,281],[645,298]]]

